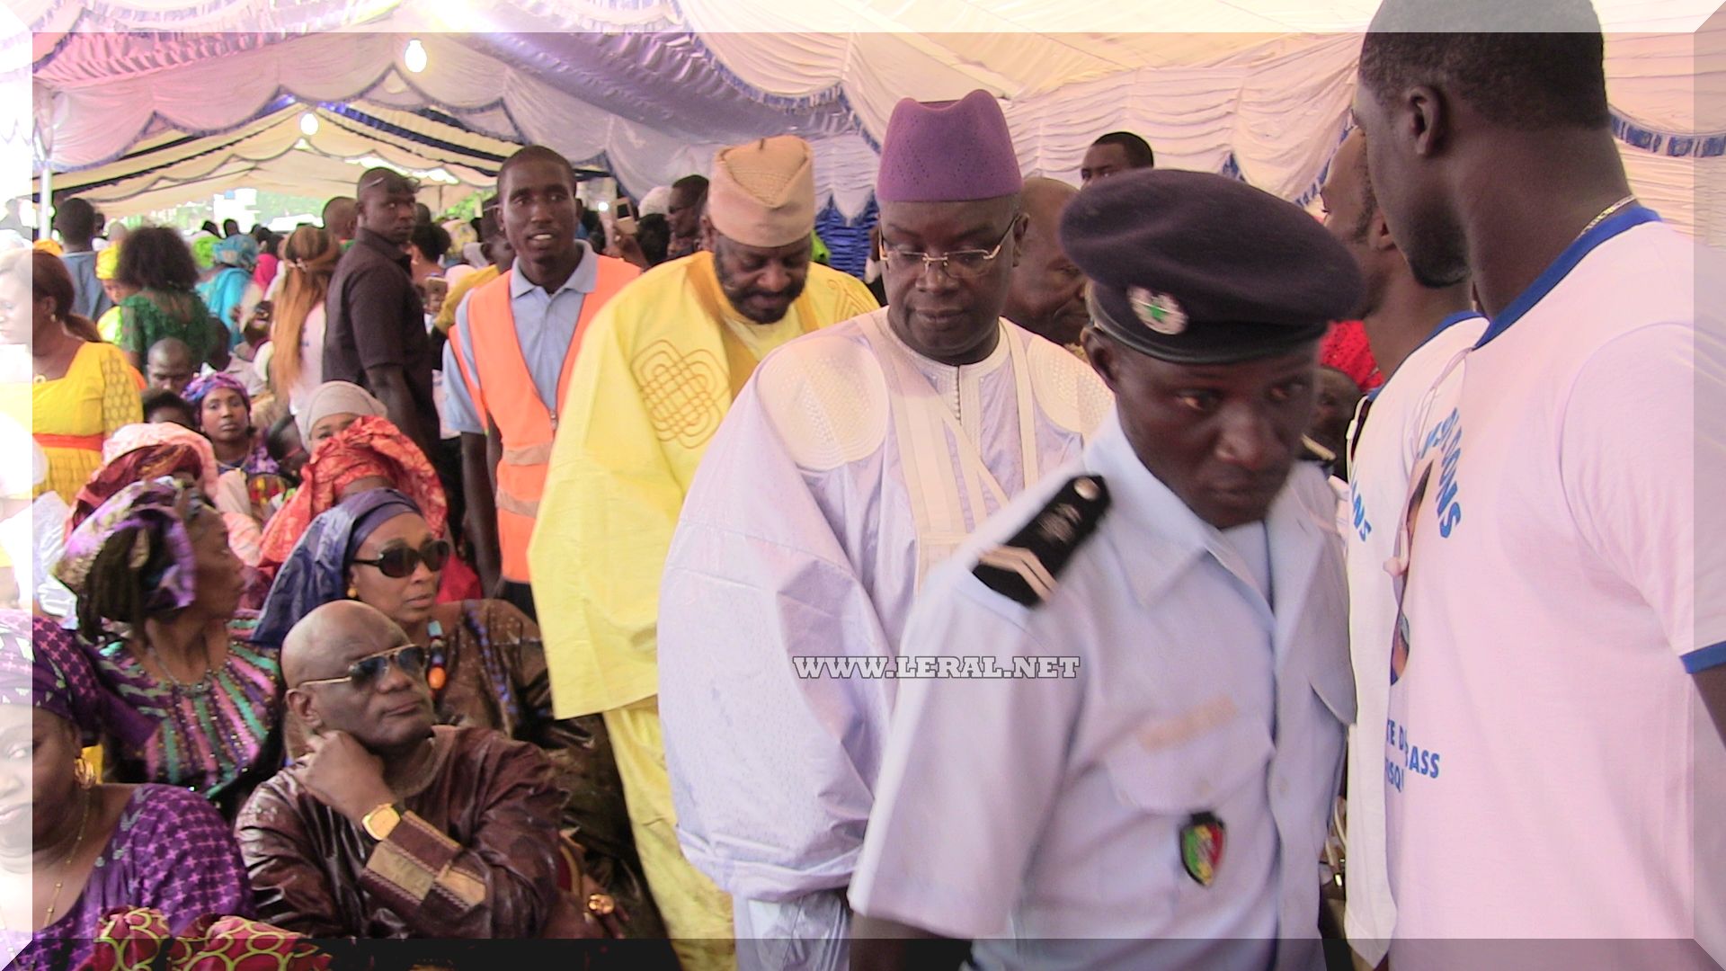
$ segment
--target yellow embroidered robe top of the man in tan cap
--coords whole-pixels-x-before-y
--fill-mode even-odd
[[[863,282],[811,264],[785,320],[742,323],[720,292],[711,254],[699,252],[644,273],[594,316],[528,544],[559,719],[659,691],[659,574],[732,396],[766,351],[875,308]],[[734,327],[747,327],[754,347]]]

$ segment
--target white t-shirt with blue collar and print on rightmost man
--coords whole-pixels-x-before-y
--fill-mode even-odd
[[[1465,938],[1721,954],[1726,746],[1691,679],[1726,662],[1717,261],[1609,218],[1415,428],[1414,475],[1434,465],[1381,748],[1396,964]]]

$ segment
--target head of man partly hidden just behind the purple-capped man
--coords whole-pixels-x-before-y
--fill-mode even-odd
[[[1001,316],[1056,344],[1077,344],[1089,321],[1084,309],[1084,275],[1058,238],[1061,209],[1079,195],[1065,181],[1032,176],[1025,180],[1018,206],[1025,214],[1025,238],[1020,244],[1013,285],[1006,292]]]

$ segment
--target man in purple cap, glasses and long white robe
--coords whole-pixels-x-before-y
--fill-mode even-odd
[[[1001,320],[1022,185],[986,92],[899,102],[875,192],[889,306],[766,356],[683,505],[659,710],[678,838],[734,897],[742,968],[846,966],[894,693],[870,665],[898,657],[925,574],[1110,408]]]

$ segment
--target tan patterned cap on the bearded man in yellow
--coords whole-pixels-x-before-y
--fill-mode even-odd
[[[1015,169],[1017,175],[1017,169]],[[708,219],[744,245],[778,247],[815,232],[815,152],[796,135],[720,149]]]

